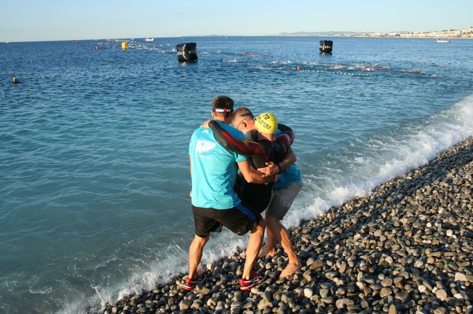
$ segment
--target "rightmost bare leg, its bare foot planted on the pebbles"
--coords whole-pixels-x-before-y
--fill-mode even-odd
[[[269,232],[273,234],[274,239],[281,244],[284,252],[286,252],[287,256],[289,257],[289,263],[287,264],[286,268],[282,270],[282,273],[279,277],[284,278],[286,276],[293,275],[302,265],[300,264],[298,255],[295,254],[289,232],[287,231],[286,227],[282,225],[281,221],[273,216],[266,215],[266,221],[268,224],[268,234]],[[274,255],[274,244],[272,250]]]

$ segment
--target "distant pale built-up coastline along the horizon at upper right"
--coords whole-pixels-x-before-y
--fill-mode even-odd
[[[393,32],[393,33],[352,33],[352,32],[298,32],[281,33],[277,36],[325,36],[325,37],[404,37],[404,38],[473,38],[473,27],[459,30],[438,30],[431,32]]]

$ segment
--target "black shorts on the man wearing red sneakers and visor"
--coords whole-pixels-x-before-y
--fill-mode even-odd
[[[201,238],[207,237],[210,232],[221,232],[222,225],[238,235],[244,235],[261,221],[260,214],[255,214],[243,204],[228,210],[192,205],[192,212],[196,234]]]

